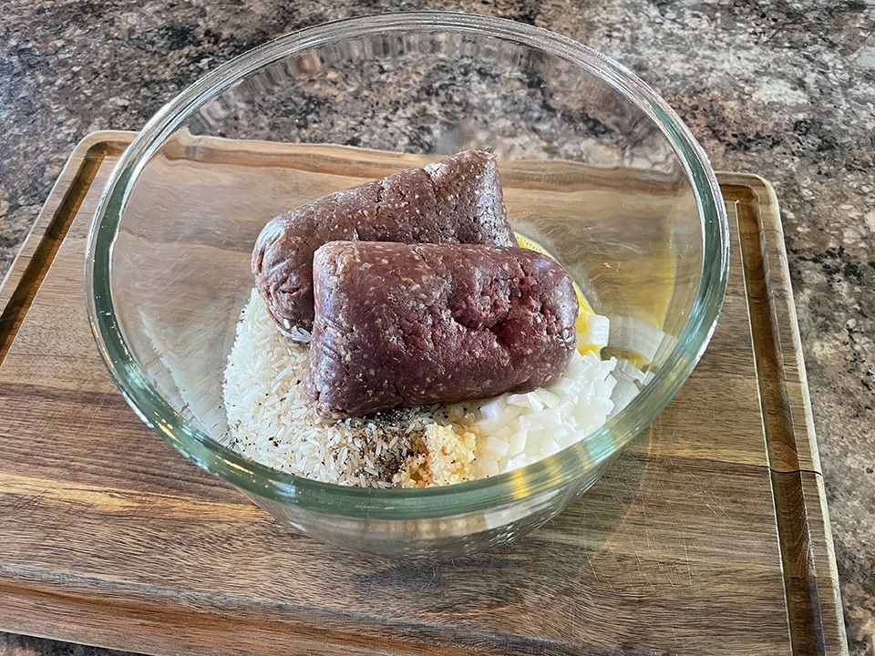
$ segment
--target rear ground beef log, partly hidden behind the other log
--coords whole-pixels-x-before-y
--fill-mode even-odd
[[[514,245],[499,170],[468,150],[338,191],[271,220],[252,252],[255,287],[285,333],[313,325],[313,253],[328,241]]]

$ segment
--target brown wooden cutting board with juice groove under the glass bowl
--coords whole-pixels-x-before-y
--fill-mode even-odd
[[[110,382],[83,260],[131,138],[77,147],[0,288],[0,630],[153,654],[847,653],[766,181],[720,176],[733,257],[714,338],[592,490],[506,547],[404,562],[277,524]]]

